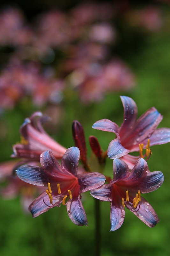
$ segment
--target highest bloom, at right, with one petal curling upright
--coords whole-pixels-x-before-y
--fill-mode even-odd
[[[116,138],[110,142],[107,155],[111,159],[122,157],[122,160],[132,169],[137,159],[140,156],[144,157],[142,154],[144,148],[148,149],[146,155],[149,156],[150,146],[170,142],[170,129],[156,129],[163,118],[156,108],[148,109],[137,119],[135,101],[127,96],[121,96],[121,100],[124,120],[120,127],[108,119],[102,119],[94,123],[92,128],[115,133]],[[140,151],[140,156],[128,154],[134,151]]]

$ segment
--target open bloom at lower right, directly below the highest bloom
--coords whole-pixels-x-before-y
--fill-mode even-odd
[[[122,226],[125,206],[147,226],[154,227],[159,222],[159,218],[152,206],[141,197],[141,193],[149,193],[159,188],[164,181],[162,172],[150,172],[143,158],[139,158],[129,172],[128,165],[124,161],[114,159],[113,174],[114,178],[109,184],[91,190],[93,197],[111,202],[110,231]]]

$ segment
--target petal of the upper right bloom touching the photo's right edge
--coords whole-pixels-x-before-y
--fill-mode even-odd
[[[150,139],[150,146],[153,145],[161,145],[170,142],[170,128],[159,128],[156,129]],[[144,148],[147,145],[147,140],[144,140],[142,143],[144,144]]]

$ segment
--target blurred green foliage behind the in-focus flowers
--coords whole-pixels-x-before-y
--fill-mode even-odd
[[[167,15],[165,28],[156,34],[143,35],[137,47],[129,40],[117,48],[117,53],[132,68],[137,77],[137,86],[125,95],[132,97],[138,106],[138,116],[154,106],[164,116],[159,127],[170,127],[170,17]],[[129,41],[129,43],[128,43]],[[113,134],[93,130],[92,124],[102,118],[108,118],[117,124],[122,123],[123,108],[120,93],[109,94],[102,102],[88,106],[81,105],[76,92],[66,92],[62,117],[57,132],[47,131],[66,148],[74,145],[71,124],[77,119],[84,127],[88,155],[90,148],[88,137],[94,135],[102,148],[107,149]],[[28,101],[19,103],[12,110],[5,110],[0,116],[0,160],[10,159],[12,145],[20,140],[19,127],[25,117],[35,109]],[[150,171],[164,173],[165,181],[156,191],[144,197],[152,204],[160,222],[154,228],[147,227],[135,215],[126,209],[125,221],[115,232],[110,230],[109,202],[101,203],[101,255],[119,256],[168,256],[170,253],[170,204],[169,204],[169,166],[170,145],[152,147],[152,156],[148,160]],[[112,176],[112,160],[107,159],[104,174]],[[0,199],[0,255],[3,256],[75,256],[94,255],[95,252],[95,216],[94,199],[86,192],[82,202],[88,218],[88,227],[74,225],[66,212],[66,207],[55,207],[37,218],[25,215],[20,197],[13,200]]]

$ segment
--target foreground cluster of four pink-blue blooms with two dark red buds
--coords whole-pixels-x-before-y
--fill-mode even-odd
[[[111,231],[122,226],[125,207],[149,227],[154,227],[159,222],[156,212],[141,194],[156,190],[164,181],[162,172],[150,172],[147,160],[152,153],[150,146],[170,142],[170,129],[156,129],[162,116],[155,108],[147,110],[136,121],[137,106],[134,100],[127,96],[121,96],[121,100],[124,120],[120,128],[108,119],[99,120],[92,126],[116,135],[107,151],[101,149],[96,137],[89,138],[93,155],[98,161],[98,167],[100,166],[98,172],[98,167],[94,172],[88,162],[84,130],[77,120],[72,124],[75,146],[66,149],[42,128],[42,123],[48,120],[47,116],[35,112],[30,118],[26,118],[20,128],[21,143],[13,146],[12,157],[20,158],[18,163],[13,163],[21,180],[19,186],[23,187],[26,182],[30,184],[25,186],[29,191],[35,186],[43,190],[29,205],[28,209],[33,217],[63,204],[66,205],[73,223],[87,226],[81,194],[90,190],[94,198],[111,203]],[[140,155],[129,155],[133,151],[139,151]],[[113,179],[103,174],[107,155],[113,159]],[[61,164],[58,160],[61,160]],[[81,168],[78,167],[79,160],[83,166]],[[7,173],[10,176],[9,171]],[[11,184],[14,184],[13,181]],[[7,190],[1,194],[5,195]]]

